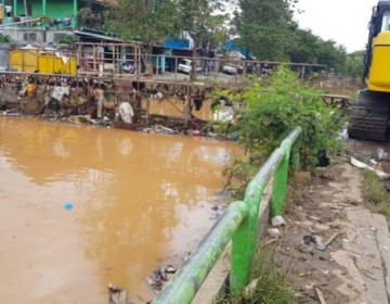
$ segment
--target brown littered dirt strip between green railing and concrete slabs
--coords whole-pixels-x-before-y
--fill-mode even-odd
[[[344,245],[346,210],[362,203],[355,188],[360,177],[349,166],[347,159],[338,159],[336,165],[318,169],[310,186],[300,187],[300,201],[289,198],[287,225],[271,246],[276,266],[291,276],[296,303],[318,303],[318,290],[327,304],[360,303],[361,286],[350,282],[353,274],[340,254],[334,255]],[[335,233],[326,249],[318,250]]]

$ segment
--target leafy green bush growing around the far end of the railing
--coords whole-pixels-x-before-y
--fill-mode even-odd
[[[327,106],[321,91],[306,86],[285,66],[265,80],[253,79],[248,90],[232,100],[242,103],[234,132],[247,149],[245,157],[225,170],[231,177],[229,188],[237,190],[238,197],[253,172],[298,126],[302,128],[299,151],[304,170],[313,172],[321,150],[332,154],[342,147],[338,139],[343,125],[340,111]]]

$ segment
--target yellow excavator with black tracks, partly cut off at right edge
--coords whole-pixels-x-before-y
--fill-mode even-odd
[[[351,106],[348,132],[351,138],[384,141],[390,112],[390,1],[373,8],[364,66],[366,89]]]

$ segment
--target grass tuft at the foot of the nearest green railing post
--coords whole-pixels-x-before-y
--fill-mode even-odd
[[[252,264],[251,282],[256,279],[250,291],[243,292],[240,296],[224,296],[216,300],[214,304],[289,304],[294,303],[295,294],[288,270],[281,270],[275,266],[274,254],[259,251]]]

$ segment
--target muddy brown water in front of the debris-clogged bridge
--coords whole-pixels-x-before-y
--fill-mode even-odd
[[[0,303],[132,303],[181,264],[216,220],[236,145],[0,118]],[[73,206],[73,208],[66,208]]]

